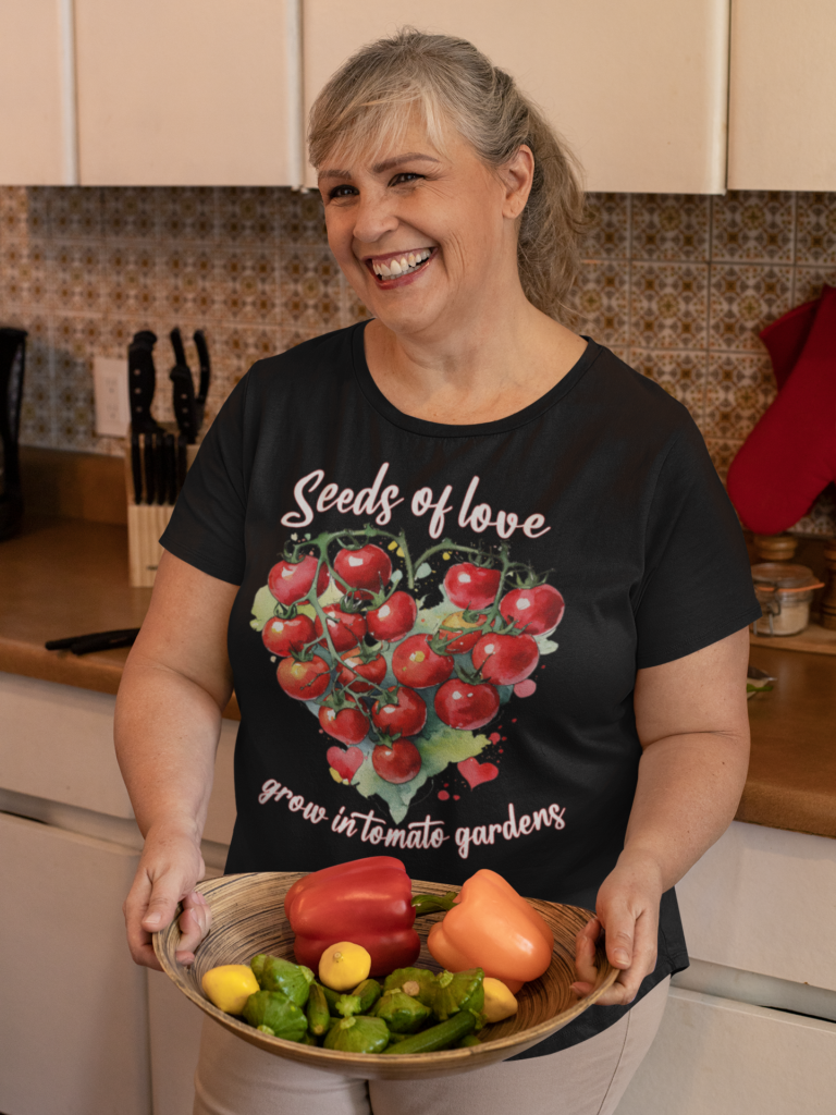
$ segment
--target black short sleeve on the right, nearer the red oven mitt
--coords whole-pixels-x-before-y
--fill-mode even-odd
[[[740,524],[691,420],[659,469],[633,609],[639,669],[692,655],[760,615]]]

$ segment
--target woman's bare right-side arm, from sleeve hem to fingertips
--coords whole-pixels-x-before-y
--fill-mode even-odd
[[[632,1002],[657,959],[659,901],[731,823],[749,765],[748,629],[663,666],[639,670],[635,725],[643,755],[624,851],[577,935],[579,995],[595,979],[594,942],[621,975],[602,1006]]]

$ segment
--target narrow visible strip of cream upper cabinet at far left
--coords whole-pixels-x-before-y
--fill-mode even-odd
[[[0,184],[77,183],[71,0],[0,0]]]

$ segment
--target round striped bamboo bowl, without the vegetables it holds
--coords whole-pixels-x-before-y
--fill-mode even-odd
[[[176,959],[176,951],[181,939],[177,920],[182,912],[182,906],[178,905],[177,913],[172,923],[154,934],[153,941],[154,951],[165,973],[206,1015],[251,1045],[257,1046],[260,1049],[264,1049],[276,1056],[308,1064],[312,1068],[340,1073],[344,1076],[364,1077],[367,1079],[420,1079],[421,1077],[443,1076],[448,1073],[464,1073],[482,1068],[523,1053],[525,1049],[562,1029],[577,1018],[579,1015],[582,1015],[589,1007],[597,1002],[607,988],[612,987],[619,976],[619,970],[613,968],[609,962],[603,946],[599,942],[596,948],[599,976],[589,996],[572,1004],[567,1009],[523,1029],[515,1030],[513,1028],[514,1019],[517,1016],[513,1016],[503,1022],[494,1024],[487,1031],[486,1040],[482,1045],[469,1046],[464,1049],[443,1049],[437,1053],[424,1054],[356,1054],[300,1045],[297,1041],[288,1041],[284,1038],[271,1037],[254,1029],[235,1016],[220,1010],[204,996],[201,988],[201,978],[208,968],[214,967],[216,963],[247,962],[249,956],[257,951],[263,951],[263,949],[255,949],[253,952],[247,953],[247,961],[239,960],[235,957],[224,960],[213,956],[212,962],[207,962],[206,944],[212,941],[213,934],[215,935],[215,940],[217,940],[217,937],[223,935],[225,930],[229,932],[231,918],[235,918],[234,924],[237,927],[243,927],[247,922],[257,922],[265,917],[265,906],[268,905],[275,910],[278,914],[274,924],[279,929],[280,920],[284,920],[284,895],[293,883],[298,879],[304,878],[305,874],[307,872],[249,872],[240,875],[221,875],[216,879],[208,879],[198,883],[196,889],[204,895],[212,909],[213,924],[210,933],[197,947],[194,962],[189,967],[179,963]],[[458,892],[460,886],[412,880],[412,890],[415,893],[440,895],[448,891]],[[251,904],[254,892],[260,892],[257,910],[254,910]],[[565,981],[558,977],[562,968],[565,968],[567,963],[566,958],[570,953],[572,963],[574,962],[574,937],[594,914],[590,910],[583,910],[580,906],[545,902],[541,899],[528,899],[527,901],[546,918],[546,921],[554,931],[555,950],[552,963],[544,976],[538,980],[533,980],[531,983],[525,985],[525,987],[536,988],[538,985],[545,988],[550,986],[565,986]],[[425,942],[430,927],[435,922],[440,921],[443,917],[443,913],[437,913],[419,917],[416,920],[416,930],[421,938],[422,946],[421,956],[416,963],[431,967],[437,971],[440,970],[439,964],[429,956]],[[288,932],[290,932],[289,927]],[[270,949],[269,946],[264,948]],[[276,947],[273,946],[273,948],[275,949]],[[279,947],[276,954],[284,954],[286,958],[293,959],[292,948],[289,948],[286,944]],[[548,978],[550,975],[552,976],[551,980]],[[519,995],[525,995],[525,988]]]

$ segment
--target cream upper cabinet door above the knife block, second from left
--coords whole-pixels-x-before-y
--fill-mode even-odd
[[[298,0],[75,11],[82,185],[300,184]]]

